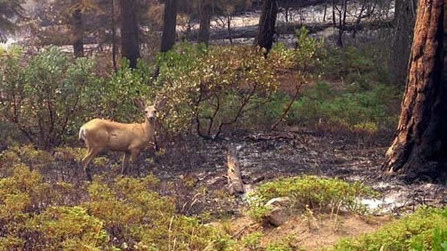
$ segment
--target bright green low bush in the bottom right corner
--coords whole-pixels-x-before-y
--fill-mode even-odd
[[[331,250],[447,250],[447,208],[419,208],[371,234],[344,239]]]

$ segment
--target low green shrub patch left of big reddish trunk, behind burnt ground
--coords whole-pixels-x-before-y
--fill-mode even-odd
[[[371,90],[335,90],[326,82],[307,88],[302,97],[294,101],[285,117],[289,125],[328,125],[351,131],[377,132],[394,128],[397,117],[389,106],[397,99],[397,91],[389,86],[376,85]],[[287,97],[276,96],[267,115],[278,114],[277,106],[285,104]]]

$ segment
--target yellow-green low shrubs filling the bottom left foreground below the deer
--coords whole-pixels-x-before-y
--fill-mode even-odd
[[[71,184],[45,182],[3,155],[12,171],[0,178],[1,250],[233,250],[235,241],[199,219],[175,212],[171,198],[154,191],[159,181],[117,178],[95,180],[84,201],[72,200]],[[3,168],[3,167],[2,167]],[[77,188],[78,193],[83,188]]]

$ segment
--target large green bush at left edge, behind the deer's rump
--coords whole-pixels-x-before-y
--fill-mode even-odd
[[[32,142],[42,147],[60,145],[77,130],[90,104],[87,86],[96,83],[94,64],[87,58],[72,60],[48,47],[28,64],[20,53],[4,60],[0,71],[0,112]]]

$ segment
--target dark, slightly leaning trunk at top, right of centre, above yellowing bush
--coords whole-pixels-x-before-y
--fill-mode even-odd
[[[259,30],[256,38],[254,38],[254,45],[265,49],[265,55],[272,49],[277,14],[278,5],[276,0],[263,0]]]

